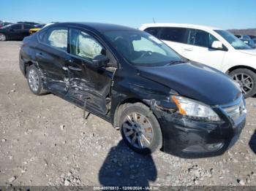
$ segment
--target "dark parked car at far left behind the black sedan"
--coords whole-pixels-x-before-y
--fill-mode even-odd
[[[10,24],[0,28],[0,41],[5,40],[23,40],[25,36],[29,36],[29,29],[34,26],[28,24]]]

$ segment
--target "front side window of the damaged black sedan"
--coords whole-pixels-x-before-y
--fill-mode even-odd
[[[92,61],[97,55],[105,54],[105,49],[96,39],[86,32],[70,29],[70,53]]]

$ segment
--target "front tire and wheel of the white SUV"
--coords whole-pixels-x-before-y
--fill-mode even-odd
[[[256,93],[256,74],[249,69],[236,69],[230,72],[230,77],[241,86],[244,98],[249,98]],[[244,79],[244,80],[243,80]]]

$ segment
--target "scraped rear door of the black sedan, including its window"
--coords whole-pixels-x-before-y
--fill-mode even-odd
[[[68,89],[67,59],[68,28],[49,28],[36,47],[36,61],[42,80],[51,92],[64,95]]]

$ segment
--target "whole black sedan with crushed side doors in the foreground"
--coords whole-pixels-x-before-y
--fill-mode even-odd
[[[32,93],[54,93],[102,117],[143,154],[162,148],[181,157],[222,155],[246,120],[230,77],[125,26],[42,28],[23,40],[20,70]]]

